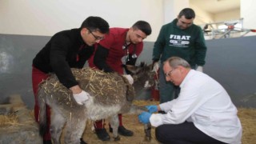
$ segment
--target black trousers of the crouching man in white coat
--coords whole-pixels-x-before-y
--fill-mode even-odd
[[[162,125],[155,129],[158,142],[166,144],[224,144],[198,130],[193,122]]]

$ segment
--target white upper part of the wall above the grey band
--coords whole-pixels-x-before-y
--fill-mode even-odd
[[[256,29],[256,1],[241,0],[243,26]],[[195,24],[234,19],[232,11],[215,16],[207,14],[189,0],[0,0],[0,34],[51,36],[58,31],[79,27],[90,15],[100,16],[110,27],[130,27],[138,20],[150,22],[153,32],[146,41],[154,42],[162,25],[177,17],[180,10],[191,7]],[[253,33],[255,34],[255,33]]]

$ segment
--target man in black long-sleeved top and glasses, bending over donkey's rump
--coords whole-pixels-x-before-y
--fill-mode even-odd
[[[34,117],[38,122],[38,84],[49,77],[57,75],[63,86],[70,89],[74,99],[82,105],[88,99],[87,93],[78,86],[70,68],[82,69],[86,60],[94,52],[94,44],[100,42],[109,32],[109,24],[99,17],[88,17],[77,29],[63,30],[54,34],[46,46],[33,59],[32,83],[34,91]],[[47,108],[48,132],[43,143],[51,143],[50,138],[50,107]]]

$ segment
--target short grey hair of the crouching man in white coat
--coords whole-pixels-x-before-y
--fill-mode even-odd
[[[190,64],[186,62],[186,60],[179,57],[170,57],[166,60],[169,63],[169,66],[172,68],[176,68],[177,66],[183,66],[185,68],[191,68]],[[164,62],[164,63],[166,63]]]

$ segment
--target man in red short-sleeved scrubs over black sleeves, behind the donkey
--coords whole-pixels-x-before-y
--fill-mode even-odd
[[[151,27],[148,22],[135,22],[130,29],[128,28],[110,28],[110,33],[97,45],[94,57],[90,58],[89,66],[96,67],[105,72],[117,72],[128,79],[130,84],[134,82],[130,74],[124,74],[123,64],[135,65],[138,55],[143,49],[143,39],[151,34]],[[124,58],[125,63],[122,62]],[[118,134],[132,136],[131,130],[126,130],[122,125],[122,114],[118,115],[119,126]],[[110,135],[104,128],[104,120],[95,122],[96,134],[102,141],[109,141]],[[110,128],[110,132],[112,129]]]

